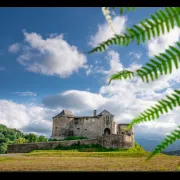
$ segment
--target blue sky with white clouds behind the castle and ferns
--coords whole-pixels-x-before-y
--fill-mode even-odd
[[[158,8],[113,12],[117,34],[149,18]],[[25,133],[51,135],[52,116],[63,109],[92,115],[106,109],[115,121],[129,123],[138,113],[178,88],[180,70],[149,84],[135,78],[114,81],[111,74],[137,69],[180,39],[175,28],[140,46],[111,46],[88,55],[113,36],[101,8],[1,8],[0,123]],[[136,137],[157,138],[180,124],[179,108],[136,126]]]

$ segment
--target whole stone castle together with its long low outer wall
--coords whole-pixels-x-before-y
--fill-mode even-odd
[[[71,111],[63,110],[53,117],[52,139],[59,141],[9,144],[8,153],[27,153],[32,150],[53,149],[72,144],[99,144],[106,148],[131,148],[134,146],[134,127],[117,124],[114,115],[104,110],[93,116],[74,116]],[[61,141],[68,136],[81,136],[88,139]]]

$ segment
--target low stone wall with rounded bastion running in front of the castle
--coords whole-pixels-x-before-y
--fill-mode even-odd
[[[57,146],[71,146],[72,144],[100,144],[106,148],[131,148],[134,142],[130,141],[126,135],[111,134],[101,136],[97,139],[51,141],[41,143],[10,144],[7,153],[28,153],[33,150],[53,149]]]

